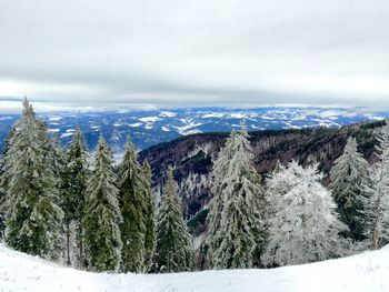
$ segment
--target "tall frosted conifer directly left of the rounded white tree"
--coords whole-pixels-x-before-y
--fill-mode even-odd
[[[259,265],[266,236],[265,193],[245,125],[232,132],[213,165],[207,243],[213,269]]]

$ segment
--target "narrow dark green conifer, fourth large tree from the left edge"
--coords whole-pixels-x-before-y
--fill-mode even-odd
[[[141,272],[144,269],[144,188],[137,152],[131,141],[128,141],[119,178],[120,209],[123,217],[120,231],[123,242],[122,270],[124,272]]]

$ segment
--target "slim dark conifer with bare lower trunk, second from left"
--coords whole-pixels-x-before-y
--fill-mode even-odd
[[[81,129],[77,125],[72,140],[66,150],[66,191],[62,192],[62,209],[66,224],[67,263],[71,263],[71,238],[76,238],[77,252],[74,253],[77,253],[77,256],[72,258],[76,258],[74,261],[77,262],[73,262],[73,264],[79,268],[82,268],[84,263],[82,218],[88,177],[88,149]]]

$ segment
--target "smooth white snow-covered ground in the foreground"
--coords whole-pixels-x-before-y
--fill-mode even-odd
[[[0,245],[0,291],[389,291],[389,246],[346,259],[272,270],[97,274]]]

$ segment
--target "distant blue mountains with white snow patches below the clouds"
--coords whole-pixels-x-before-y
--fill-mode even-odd
[[[94,149],[102,133],[120,152],[130,134],[139,150],[170,141],[181,135],[201,132],[229,132],[246,117],[249,131],[262,129],[299,129],[306,127],[340,127],[355,122],[388,118],[388,112],[365,109],[283,108],[258,109],[190,108],[152,111],[100,111],[43,113],[41,118],[64,143],[76,124],[86,133],[88,145]],[[0,148],[11,124],[19,118],[1,113]]]

